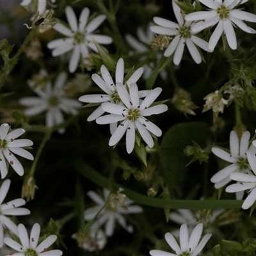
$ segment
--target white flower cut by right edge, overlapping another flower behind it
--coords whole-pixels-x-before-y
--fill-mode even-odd
[[[246,152],[247,159],[252,167],[253,173],[231,173],[230,179],[236,180],[236,184],[232,184],[226,188],[228,193],[241,193],[241,191],[248,190],[250,193],[243,202],[242,208],[244,210],[250,208],[256,201],[256,157],[255,152],[248,150]]]

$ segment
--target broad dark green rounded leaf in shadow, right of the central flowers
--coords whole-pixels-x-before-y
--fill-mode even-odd
[[[182,184],[184,170],[188,163],[188,157],[182,154],[183,148],[189,145],[191,140],[205,146],[208,132],[206,124],[190,122],[173,125],[164,135],[160,161],[166,171],[166,178],[171,188],[179,189]]]

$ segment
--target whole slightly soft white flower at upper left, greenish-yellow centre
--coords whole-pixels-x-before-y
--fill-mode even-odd
[[[78,22],[76,14],[70,6],[65,8],[65,12],[70,28],[67,28],[61,23],[57,23],[53,28],[62,35],[67,36],[67,38],[53,40],[47,44],[47,47],[53,49],[52,56],[54,57],[72,51],[68,70],[73,73],[76,71],[80,54],[83,57],[83,61],[85,61],[84,58],[89,56],[89,50],[98,52],[93,40],[99,44],[111,44],[112,38],[110,36],[95,34],[95,30],[106,19],[106,15],[99,15],[87,24],[90,15],[88,8],[83,8]]]

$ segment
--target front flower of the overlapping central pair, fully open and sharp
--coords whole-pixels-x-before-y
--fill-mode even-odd
[[[151,90],[141,103],[136,83],[131,84],[129,92],[127,92],[123,84],[116,83],[116,90],[123,102],[123,106],[110,102],[103,103],[102,109],[110,113],[110,115],[100,116],[96,120],[97,124],[111,124],[122,121],[112,134],[109,140],[109,146],[116,145],[126,132],[126,150],[130,154],[134,149],[135,132],[138,130],[148,147],[152,148],[154,146],[154,140],[151,134],[159,137],[162,135],[162,131],[144,116],[157,115],[167,111],[168,108],[164,104],[150,107],[162,92],[162,89],[158,87]]]

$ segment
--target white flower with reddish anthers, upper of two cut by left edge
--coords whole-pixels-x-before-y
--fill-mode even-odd
[[[34,160],[31,153],[22,147],[29,147],[33,145],[33,142],[28,139],[15,140],[20,135],[24,134],[24,129],[15,129],[9,132],[10,125],[2,124],[0,126],[0,172],[1,179],[4,179],[8,173],[8,167],[6,165],[5,159],[11,164],[13,170],[17,172],[18,175],[22,176],[24,174],[23,166],[20,164],[19,160],[13,155],[24,157],[29,160]],[[8,133],[9,132],[9,133]]]

